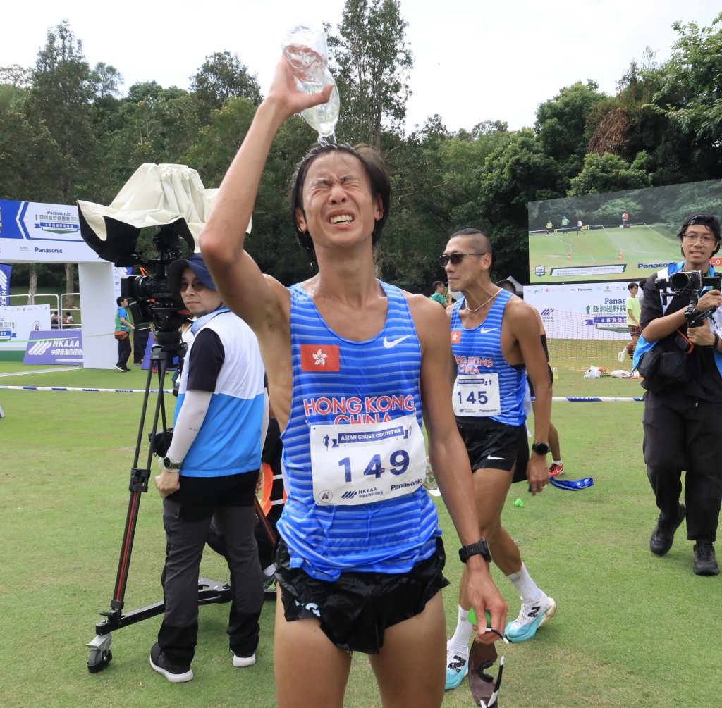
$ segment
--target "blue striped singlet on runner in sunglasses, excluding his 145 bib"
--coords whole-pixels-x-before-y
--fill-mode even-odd
[[[501,349],[504,308],[511,296],[508,290],[503,289],[494,300],[486,319],[473,329],[464,329],[461,324],[458,311],[465,299],[457,300],[451,311],[451,349],[456,357],[458,376],[498,375],[501,413],[489,417],[507,425],[521,425],[526,420],[523,405],[526,372],[510,367]]]

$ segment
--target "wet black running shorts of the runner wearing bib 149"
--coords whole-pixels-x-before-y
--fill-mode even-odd
[[[383,631],[422,613],[426,603],[449,584],[442,570],[446,561],[441,538],[430,558],[407,573],[342,573],[336,582],[317,580],[290,567],[283,539],[276,552],[276,577],[287,621],[316,618],[336,647],[378,654]]]

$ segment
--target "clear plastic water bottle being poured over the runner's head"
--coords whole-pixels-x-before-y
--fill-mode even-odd
[[[339,89],[329,71],[329,49],[323,27],[314,22],[300,22],[286,32],[282,41],[284,56],[293,67],[296,86],[308,94],[318,93],[333,84],[328,102],[306,108],[301,115],[319,136],[327,138],[334,134],[339,120]]]

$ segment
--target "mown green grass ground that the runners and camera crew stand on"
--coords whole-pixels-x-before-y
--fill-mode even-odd
[[[127,375],[97,370],[27,371],[0,362],[0,385],[136,388]],[[638,382],[585,380],[560,367],[554,395],[633,397]],[[0,388],[0,704],[74,708],[271,708],[274,603],[261,617],[258,662],[230,663],[227,606],[201,608],[191,683],[171,685],[148,665],[160,616],[113,633],[113,660],[90,674],[87,642],[108,610],[116,579],[128,482],[142,396]],[[641,453],[642,403],[554,403],[567,478],[593,476],[584,491],[549,486],[532,498],[510,491],[503,519],[527,567],[557,600],[554,619],[524,644],[503,647],[503,708],[668,708],[719,704],[721,577],[692,573],[684,526],[659,558],[648,550],[656,519]],[[515,507],[515,499],[523,507]],[[461,564],[448,514],[437,500],[451,587],[444,591],[448,633],[456,623]],[[155,491],[142,497],[126,589],[126,610],[161,598],[164,536]],[[495,580],[516,616],[518,596]],[[201,574],[226,580],[208,550]],[[413,647],[409,647],[413,651]],[[281,668],[282,670],[282,668]],[[473,704],[468,684],[445,707]],[[365,657],[355,657],[346,705],[380,705]],[[321,707],[318,707],[321,708]]]

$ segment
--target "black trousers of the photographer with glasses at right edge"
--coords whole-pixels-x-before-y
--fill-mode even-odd
[[[687,538],[715,541],[722,501],[722,403],[691,395],[645,395],[644,461],[657,507],[677,517],[684,478]]]

